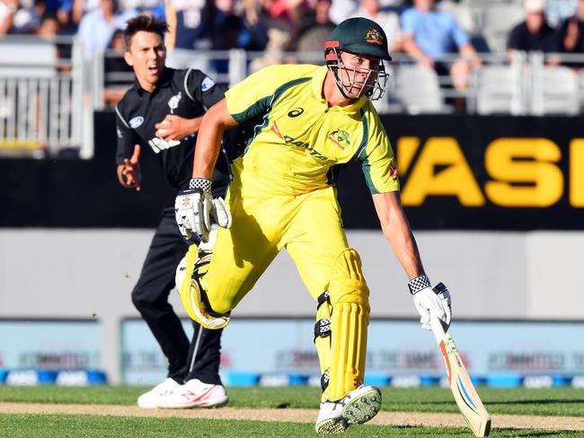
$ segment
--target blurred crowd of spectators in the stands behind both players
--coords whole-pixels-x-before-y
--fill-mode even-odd
[[[514,9],[481,20],[482,11],[497,5]],[[508,10],[515,14],[507,16]],[[193,58],[193,49],[243,48],[262,52],[251,71],[296,62],[294,52],[321,52],[337,23],[366,17],[381,25],[394,58],[411,57],[432,68],[447,78],[443,86],[460,95],[485,53],[506,50],[509,61],[518,51],[584,54],[584,0],[0,0],[0,34],[76,34],[91,59],[96,51],[123,52],[120,30],[138,13],[171,25],[166,46],[172,66],[192,66],[185,60]],[[489,38],[497,26],[507,26],[500,45]],[[546,63],[575,70],[582,65],[570,57],[549,57]],[[108,69],[129,71],[121,57],[118,63],[106,59]],[[213,70],[226,73],[226,61],[215,61]],[[106,101],[113,104],[120,96],[119,90],[106,92]]]

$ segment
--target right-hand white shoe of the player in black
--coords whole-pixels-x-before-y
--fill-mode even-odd
[[[174,390],[173,393],[160,397],[158,407],[182,409],[189,407],[221,407],[229,398],[222,385],[203,383],[199,379],[190,379]]]

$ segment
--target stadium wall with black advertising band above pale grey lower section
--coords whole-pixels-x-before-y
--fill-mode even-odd
[[[455,295],[456,318],[581,319],[574,273],[584,244],[584,132],[577,119],[384,122],[425,266]],[[174,194],[148,153],[142,192],[119,187],[113,125],[111,113],[95,115],[90,161],[0,160],[0,317],[98,320],[102,366],[115,382],[119,321],[137,316],[129,293]],[[416,318],[358,166],[341,174],[339,192],[350,244],[364,259],[372,316]],[[293,298],[282,306],[282,297]],[[280,255],[234,315],[313,314],[296,269]]]

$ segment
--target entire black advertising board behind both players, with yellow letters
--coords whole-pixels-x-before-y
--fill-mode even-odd
[[[403,204],[416,230],[583,230],[580,118],[384,116]],[[142,154],[142,190],[115,173],[115,117],[94,118],[92,160],[0,159],[0,227],[152,228],[174,191],[155,154]],[[341,172],[345,227],[378,229],[363,174]]]

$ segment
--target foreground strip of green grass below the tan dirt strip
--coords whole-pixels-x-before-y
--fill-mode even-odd
[[[581,433],[542,432],[529,430],[495,430],[492,437],[557,437],[583,436]],[[0,415],[0,436],[11,438],[262,438],[311,437],[314,425],[297,423],[270,423],[261,421],[228,421],[180,418],[116,417],[116,416],[56,416],[56,415]],[[468,437],[466,428],[397,427],[360,425],[350,427],[343,437]]]

